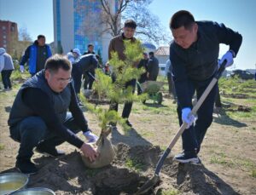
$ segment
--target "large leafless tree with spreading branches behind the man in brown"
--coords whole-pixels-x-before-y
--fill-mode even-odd
[[[83,0],[78,0],[75,5],[76,13],[84,20],[76,32],[82,37],[86,35],[89,40],[95,40],[106,32],[115,37],[122,31],[122,23],[132,19],[137,22],[137,37],[156,44],[168,43],[171,40],[168,37],[170,33],[166,32],[159,18],[148,9],[152,2],[153,0],[99,0],[85,5]]]

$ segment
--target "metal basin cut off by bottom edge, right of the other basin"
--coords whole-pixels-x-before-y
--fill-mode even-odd
[[[27,188],[11,193],[11,195],[55,195],[55,192],[44,187]]]

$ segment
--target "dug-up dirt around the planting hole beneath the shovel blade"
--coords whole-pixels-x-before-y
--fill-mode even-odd
[[[28,187],[48,187],[56,194],[133,194],[154,175],[160,147],[119,144],[116,149],[113,163],[102,169],[85,168],[79,152],[62,158],[38,158],[35,161],[42,168],[31,176]],[[179,194],[236,194],[202,165],[181,165],[166,158],[160,182],[148,194],[176,191]]]

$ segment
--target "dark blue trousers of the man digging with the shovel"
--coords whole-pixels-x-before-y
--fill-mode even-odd
[[[207,79],[207,81],[189,81],[189,100],[191,100],[190,107],[192,108],[192,98],[196,92],[197,100],[200,99],[201,95],[207,89],[208,84],[212,81],[212,78]],[[199,152],[201,148],[201,143],[204,136],[207,133],[207,129],[212,123],[212,113],[214,100],[217,93],[218,85],[215,84],[212,91],[207,96],[206,100],[202,103],[201,107],[197,111],[197,120],[195,125],[191,125],[189,129],[185,129],[182,135],[183,150],[185,153],[195,153]],[[182,125],[182,109],[177,100],[177,115],[179,124]]]

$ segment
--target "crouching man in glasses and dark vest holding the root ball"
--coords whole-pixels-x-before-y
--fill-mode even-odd
[[[46,61],[44,70],[26,80],[16,95],[8,123],[10,136],[20,142],[16,168],[22,173],[38,171],[31,161],[34,147],[37,152],[57,157],[64,152],[55,146],[67,141],[90,161],[98,155],[95,148],[76,135],[82,130],[88,141],[97,140],[77,103],[71,72],[69,60],[55,54]]]

